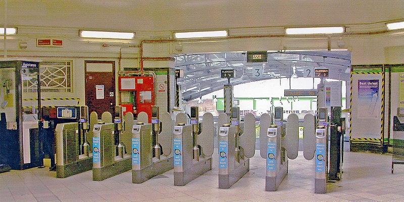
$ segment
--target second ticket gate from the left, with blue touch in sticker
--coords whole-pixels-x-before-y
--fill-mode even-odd
[[[126,146],[131,149],[133,114],[126,113],[123,128],[122,107],[117,106],[115,111],[114,123],[111,113],[104,112],[102,123],[95,124],[92,130],[92,179],[95,181],[105,180],[132,168],[132,156],[127,153]]]

